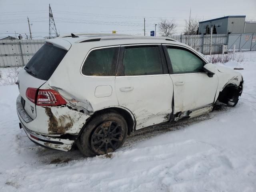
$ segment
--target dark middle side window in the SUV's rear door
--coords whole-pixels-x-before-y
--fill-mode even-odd
[[[163,74],[158,46],[131,46],[124,49],[124,75]]]

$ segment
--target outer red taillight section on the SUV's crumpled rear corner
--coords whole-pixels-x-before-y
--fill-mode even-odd
[[[60,106],[67,102],[62,96],[52,89],[40,89],[36,98],[36,105],[40,106]]]

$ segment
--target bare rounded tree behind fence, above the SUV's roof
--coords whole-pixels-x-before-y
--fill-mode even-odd
[[[160,23],[158,23],[158,28],[160,30],[160,33],[164,37],[168,37],[174,34],[176,26],[177,24],[175,23],[174,20],[168,21],[164,19],[164,20],[161,20]]]

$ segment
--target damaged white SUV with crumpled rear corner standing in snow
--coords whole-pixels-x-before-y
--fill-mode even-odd
[[[235,106],[242,86],[172,39],[72,34],[46,40],[20,70],[17,111],[33,142],[95,156],[141,128]]]

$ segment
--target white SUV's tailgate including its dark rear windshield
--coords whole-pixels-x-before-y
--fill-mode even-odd
[[[52,41],[66,43],[65,40]],[[32,119],[36,118],[36,104],[26,97],[27,88],[38,89],[42,84],[48,81],[67,52],[68,50],[60,48],[60,45],[57,46],[56,44],[47,42],[34,54],[28,64],[20,70],[18,86],[20,95],[22,96],[21,103],[24,110]]]

